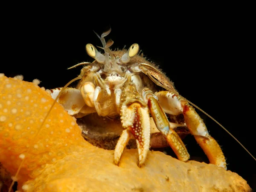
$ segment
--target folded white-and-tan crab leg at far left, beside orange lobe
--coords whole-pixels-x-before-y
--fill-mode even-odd
[[[56,99],[62,88],[51,89],[52,99]],[[67,87],[57,100],[70,115],[76,115],[84,107],[85,102],[78,89]]]

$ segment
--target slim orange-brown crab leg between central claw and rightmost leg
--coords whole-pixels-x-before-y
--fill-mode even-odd
[[[157,96],[147,88],[142,91],[142,94],[144,101],[148,103],[148,108],[157,129],[163,133],[166,141],[177,155],[177,158],[182,161],[189,160],[189,153],[178,134],[169,127],[166,113],[160,107]]]

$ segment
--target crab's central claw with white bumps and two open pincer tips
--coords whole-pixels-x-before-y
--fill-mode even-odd
[[[122,153],[133,135],[137,142],[139,165],[146,160],[150,141],[150,119],[148,107],[138,93],[133,83],[128,83],[121,95],[122,107],[120,110],[122,126],[125,129],[119,138],[115,152],[114,163],[118,164]]]

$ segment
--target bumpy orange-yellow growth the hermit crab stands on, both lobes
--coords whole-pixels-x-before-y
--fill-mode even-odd
[[[35,83],[0,74],[0,162],[15,175],[24,160],[19,191],[251,191],[236,173],[157,151],[139,168],[127,149],[116,166],[113,151],[87,143],[58,103],[41,127],[52,102]]]

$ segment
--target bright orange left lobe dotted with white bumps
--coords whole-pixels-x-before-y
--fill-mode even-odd
[[[25,158],[16,178],[21,185],[40,175],[47,164],[72,154],[74,146],[90,145],[58,103],[39,131],[53,101],[37,84],[0,74],[0,162],[15,175]]]

